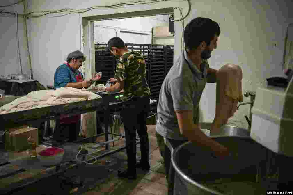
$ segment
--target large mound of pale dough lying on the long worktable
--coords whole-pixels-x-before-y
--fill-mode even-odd
[[[18,112],[34,108],[53,105],[68,104],[84,100],[102,98],[91,92],[75,88],[58,88],[57,90],[39,90],[30,92],[28,95],[17,98],[12,102],[0,107],[0,114]]]

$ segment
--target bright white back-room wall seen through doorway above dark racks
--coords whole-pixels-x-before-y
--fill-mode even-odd
[[[125,43],[151,44],[151,29],[155,26],[168,26],[169,15],[101,20],[95,21],[94,25],[95,42],[108,43],[110,38],[118,36]],[[120,30],[148,35],[123,33]]]

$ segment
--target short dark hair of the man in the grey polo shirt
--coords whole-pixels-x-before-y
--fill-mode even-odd
[[[184,30],[185,48],[196,49],[203,41],[209,46],[215,35],[220,35],[220,27],[217,22],[210,18],[194,18]]]

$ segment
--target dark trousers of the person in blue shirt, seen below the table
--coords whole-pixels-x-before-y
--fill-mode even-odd
[[[63,142],[68,139],[69,142],[76,141],[80,131],[80,120],[76,123],[59,123],[53,134],[53,139],[58,142]]]

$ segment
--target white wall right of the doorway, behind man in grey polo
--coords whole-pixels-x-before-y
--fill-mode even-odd
[[[196,17],[209,17],[217,21],[221,35],[218,48],[212,52],[209,59],[210,66],[219,69],[226,63],[239,64],[243,70],[243,91],[255,91],[259,86],[266,86],[266,78],[285,76],[282,73],[282,55],[285,30],[287,25],[293,22],[293,1],[243,2],[193,2],[191,14],[185,23]],[[183,13],[186,11],[187,7]],[[205,122],[211,122],[214,117],[215,88],[215,84],[207,84],[202,95],[200,106]],[[249,98],[244,98],[244,101],[248,102]],[[249,105],[240,106],[230,122],[248,127],[244,118],[248,115],[248,109]]]

